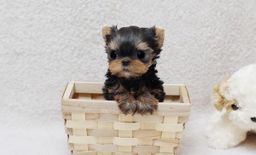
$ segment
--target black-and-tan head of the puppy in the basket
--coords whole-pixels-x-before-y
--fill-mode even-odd
[[[104,27],[109,71],[119,78],[135,78],[148,72],[149,66],[160,55],[164,30],[137,26]]]

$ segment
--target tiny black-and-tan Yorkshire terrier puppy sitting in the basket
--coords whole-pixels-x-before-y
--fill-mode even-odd
[[[104,27],[109,68],[102,88],[106,100],[116,100],[125,113],[152,114],[163,101],[163,82],[156,76],[156,59],[164,30],[137,26]]]

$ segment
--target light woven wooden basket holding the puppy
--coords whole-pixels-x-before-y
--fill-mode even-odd
[[[190,100],[184,85],[165,84],[166,98],[152,115],[125,115],[104,100],[103,83],[69,82],[61,100],[73,155],[176,154]]]

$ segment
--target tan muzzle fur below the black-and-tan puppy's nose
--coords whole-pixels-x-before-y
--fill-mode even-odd
[[[129,66],[123,66],[122,59],[119,59],[109,62],[109,71],[118,78],[137,78],[148,72],[148,66],[140,60],[131,60]]]

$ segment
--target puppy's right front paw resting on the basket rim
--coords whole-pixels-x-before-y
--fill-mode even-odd
[[[149,93],[137,97],[137,112],[140,114],[152,114],[158,107],[158,100]]]

